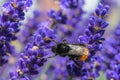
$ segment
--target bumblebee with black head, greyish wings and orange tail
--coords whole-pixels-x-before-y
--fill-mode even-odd
[[[68,44],[66,40],[52,47],[52,52],[62,57],[69,56],[71,59],[85,61],[88,58],[89,50],[82,44]]]

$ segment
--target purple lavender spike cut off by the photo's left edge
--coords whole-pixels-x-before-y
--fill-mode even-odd
[[[7,56],[12,54],[9,50],[11,41],[16,40],[19,32],[20,21],[24,19],[26,10],[32,5],[31,0],[10,0],[2,6],[3,14],[0,15],[0,65],[7,62]]]

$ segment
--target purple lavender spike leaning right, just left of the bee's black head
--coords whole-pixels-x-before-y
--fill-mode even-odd
[[[26,46],[18,60],[17,71],[10,73],[11,80],[30,80],[32,75],[39,73],[40,67],[46,62],[46,58],[44,58],[47,53],[46,49],[49,52],[50,46],[48,45],[55,38],[53,31],[48,28],[46,23],[41,24],[33,38],[33,42]]]

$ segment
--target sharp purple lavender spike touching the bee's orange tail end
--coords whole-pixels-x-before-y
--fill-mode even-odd
[[[70,62],[67,65],[70,75],[78,76],[82,80],[93,80],[99,76],[102,60],[99,59],[100,56],[97,55],[96,52],[102,49],[102,43],[105,40],[102,36],[105,32],[105,28],[108,26],[108,23],[104,19],[108,12],[109,7],[107,5],[103,6],[99,4],[95,10],[95,15],[90,17],[85,35],[81,35],[78,38],[79,43],[85,44],[88,47],[89,58],[85,62],[77,60],[74,61],[74,63]]]

